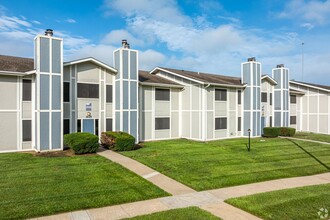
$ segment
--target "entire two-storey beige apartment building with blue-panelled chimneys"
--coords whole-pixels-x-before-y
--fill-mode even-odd
[[[62,39],[35,38],[34,59],[0,55],[0,152],[63,149],[63,134],[126,131],[137,141],[261,136],[290,126],[330,134],[330,86],[272,75],[249,58],[241,77],[164,67],[139,70],[123,40],[114,67],[94,58],[63,63]]]

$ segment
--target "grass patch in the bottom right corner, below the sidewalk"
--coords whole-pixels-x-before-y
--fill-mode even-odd
[[[329,210],[330,184],[261,193],[226,202],[263,219],[321,219],[317,212]],[[324,219],[328,219],[324,218]]]

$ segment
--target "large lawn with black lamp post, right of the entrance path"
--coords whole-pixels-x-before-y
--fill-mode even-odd
[[[146,142],[122,154],[196,190],[215,189],[285,177],[329,172],[330,145],[253,138],[208,143],[191,140]]]

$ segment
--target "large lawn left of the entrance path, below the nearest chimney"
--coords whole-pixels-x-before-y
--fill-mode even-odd
[[[101,156],[0,154],[0,219],[23,219],[168,195]]]

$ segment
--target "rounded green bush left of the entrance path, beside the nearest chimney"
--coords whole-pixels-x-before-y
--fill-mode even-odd
[[[95,153],[99,148],[99,138],[87,132],[66,134],[64,145],[71,148],[75,154]]]

